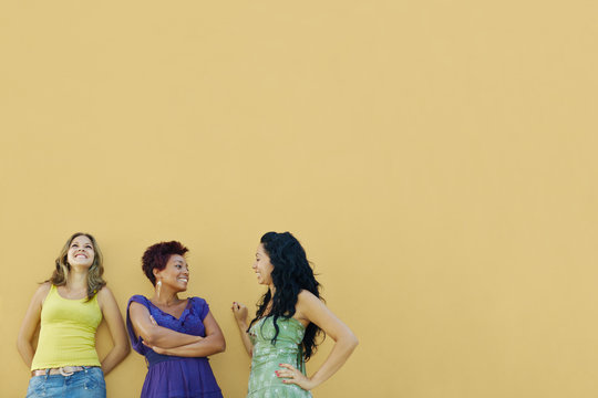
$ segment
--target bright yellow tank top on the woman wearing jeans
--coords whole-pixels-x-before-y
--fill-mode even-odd
[[[92,300],[69,300],[52,285],[41,312],[40,338],[31,370],[62,366],[100,366],[95,331],[102,322],[97,294]]]

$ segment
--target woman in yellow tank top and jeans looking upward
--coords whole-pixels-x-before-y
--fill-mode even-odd
[[[102,279],[102,253],[95,239],[72,234],[55,261],[52,276],[34,293],[17,346],[31,368],[27,397],[105,398],[104,375],[128,354],[118,305]],[[102,362],[95,331],[106,321],[114,342]],[[32,339],[40,325],[37,349]]]

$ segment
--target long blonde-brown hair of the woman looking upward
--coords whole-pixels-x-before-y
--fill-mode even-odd
[[[87,272],[87,301],[92,300],[93,296],[100,292],[102,287],[106,285],[106,281],[102,279],[102,275],[104,274],[104,265],[103,265],[103,255],[102,251],[100,250],[100,247],[97,245],[97,242],[95,241],[95,238],[93,238],[91,234],[85,232],[76,232],[69,238],[62,250],[60,251],[59,256],[56,258],[55,264],[56,268],[54,272],[52,273],[52,276],[45,281],[51,282],[54,286],[63,286],[66,284],[66,280],[69,277],[69,272],[71,271],[71,264],[69,264],[69,249],[71,248],[71,243],[73,239],[76,237],[87,237],[92,241],[93,251],[95,253],[93,258],[93,264],[91,264],[90,270]]]

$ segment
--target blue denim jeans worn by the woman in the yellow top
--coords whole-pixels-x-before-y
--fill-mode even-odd
[[[106,398],[106,383],[102,368],[87,367],[71,376],[42,375],[29,380],[27,398],[69,397],[69,398]]]

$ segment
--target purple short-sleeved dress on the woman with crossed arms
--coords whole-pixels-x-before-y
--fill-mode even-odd
[[[220,387],[214,378],[207,357],[178,357],[161,355],[142,343],[133,332],[128,307],[132,302],[145,305],[157,324],[169,329],[205,337],[204,318],[209,306],[204,298],[190,297],[177,320],[152,304],[142,295],[134,295],[126,307],[126,328],[133,349],[145,356],[147,375],[142,398],[221,398]]]

